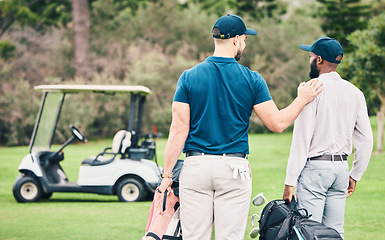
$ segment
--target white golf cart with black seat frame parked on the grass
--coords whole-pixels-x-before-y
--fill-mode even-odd
[[[20,176],[13,186],[18,202],[36,202],[51,197],[54,192],[117,195],[120,201],[134,202],[154,193],[162,171],[156,163],[155,138],[158,136],[141,135],[143,108],[150,89],[144,86],[40,85],[35,90],[43,92],[43,100],[30,141],[30,153],[21,161]],[[80,159],[78,180],[70,182],[60,165],[64,160],[63,149],[75,139],[81,142],[87,139],[71,124],[72,136],[60,149],[51,150],[51,145],[64,98],[74,93],[129,94],[131,103],[127,129],[115,134],[111,147],[96,156]]]

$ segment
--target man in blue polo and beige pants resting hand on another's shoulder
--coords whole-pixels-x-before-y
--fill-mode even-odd
[[[172,184],[172,169],[182,149],[180,175],[183,239],[243,239],[251,198],[247,160],[252,111],[272,131],[290,126],[321,91],[317,80],[302,83],[298,97],[278,110],[258,72],[238,64],[246,35],[256,35],[236,15],[220,17],[213,27],[215,51],[179,78],[159,190]],[[240,177],[238,177],[238,175]]]

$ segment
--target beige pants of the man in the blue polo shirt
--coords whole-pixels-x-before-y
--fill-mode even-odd
[[[250,179],[233,178],[229,164],[243,165],[245,158],[192,156],[180,174],[181,224],[184,240],[244,239],[251,198]]]

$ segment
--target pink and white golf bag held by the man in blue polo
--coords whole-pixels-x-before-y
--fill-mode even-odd
[[[170,193],[166,190],[160,193],[155,190],[148,220],[146,234],[142,240],[182,240],[182,229],[179,218],[179,173],[183,161],[178,160],[173,169],[173,184]]]

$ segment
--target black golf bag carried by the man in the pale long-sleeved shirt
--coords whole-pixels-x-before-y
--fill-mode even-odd
[[[274,200],[262,210],[259,239],[342,240],[335,229],[309,219],[310,217],[306,209],[298,209],[295,199],[290,205],[285,204],[284,200]]]

